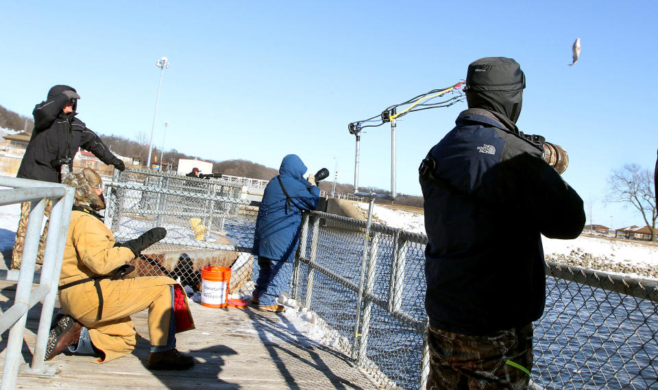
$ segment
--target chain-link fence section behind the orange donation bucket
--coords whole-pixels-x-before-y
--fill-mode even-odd
[[[116,241],[157,226],[167,229],[162,241],[133,260],[132,276],[169,276],[199,291],[201,269],[219,265],[232,269],[229,293],[249,289],[258,202],[250,200],[249,183],[239,179],[115,171],[106,184],[105,223]]]

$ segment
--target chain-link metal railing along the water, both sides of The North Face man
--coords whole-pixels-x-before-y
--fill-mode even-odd
[[[426,236],[310,212],[293,297],[385,389],[425,389]],[[658,284],[548,263],[531,389],[658,389]]]

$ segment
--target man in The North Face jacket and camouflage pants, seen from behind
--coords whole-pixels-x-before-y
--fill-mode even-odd
[[[419,169],[428,390],[527,389],[546,303],[541,234],[574,239],[585,225],[582,199],[515,124],[523,88],[511,58],[470,64],[469,109]]]

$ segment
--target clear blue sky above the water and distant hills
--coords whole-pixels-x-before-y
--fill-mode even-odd
[[[30,115],[54,84],[74,86],[80,119],[99,134],[151,134],[154,144],[213,160],[354,181],[348,123],[465,77],[470,62],[515,58],[526,73],[520,129],[563,146],[563,178],[594,223],[636,224],[602,199],[612,169],[653,169],[658,147],[658,5],[650,1],[3,2],[0,104]],[[581,59],[571,47],[581,38]],[[417,167],[465,103],[398,121],[397,188],[420,195]],[[390,127],[361,137],[362,186],[390,187]],[[336,160],[334,160],[334,157]],[[587,210],[589,223],[589,210]]]

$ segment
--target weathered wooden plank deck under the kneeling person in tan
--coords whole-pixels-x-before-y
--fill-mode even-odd
[[[6,310],[14,285],[0,282],[0,307]],[[346,356],[309,341],[285,317],[254,308],[206,308],[191,302],[197,328],[177,335],[178,350],[197,365],[188,371],[149,371],[147,312],[133,317],[140,339],[132,354],[97,365],[89,356],[59,354],[53,378],[21,376],[16,389],[378,389]],[[28,315],[23,358],[32,359],[39,308]],[[9,332],[0,340],[4,363]]]

